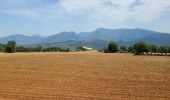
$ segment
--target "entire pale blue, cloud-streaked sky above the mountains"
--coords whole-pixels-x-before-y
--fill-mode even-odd
[[[97,28],[170,33],[170,0],[0,0],[0,37]]]

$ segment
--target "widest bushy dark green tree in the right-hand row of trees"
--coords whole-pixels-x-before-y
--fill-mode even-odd
[[[149,52],[149,45],[144,42],[139,42],[133,46],[135,55],[140,55],[141,53]]]

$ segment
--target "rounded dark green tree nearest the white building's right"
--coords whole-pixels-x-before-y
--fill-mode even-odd
[[[110,42],[107,50],[109,53],[116,53],[119,51],[119,47],[115,42]]]

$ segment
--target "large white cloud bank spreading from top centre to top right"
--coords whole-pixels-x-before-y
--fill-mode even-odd
[[[140,2],[139,5],[135,3]],[[59,7],[66,13],[92,17],[97,21],[139,22],[155,20],[170,11],[169,0],[60,0]]]

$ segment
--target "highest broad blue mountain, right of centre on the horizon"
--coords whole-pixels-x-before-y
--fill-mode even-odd
[[[83,40],[101,39],[105,41],[134,41],[147,35],[158,34],[158,32],[143,29],[104,29],[100,28],[93,32],[80,33]]]

